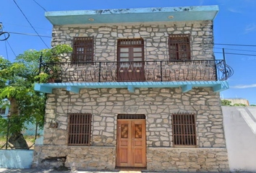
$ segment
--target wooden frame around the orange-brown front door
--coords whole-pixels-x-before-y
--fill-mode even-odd
[[[119,125],[119,121],[144,121],[145,123],[145,167],[129,167],[129,168],[137,168],[137,169],[144,169],[147,167],[147,135],[146,135],[146,120],[145,119],[118,119],[117,120],[117,123],[116,123],[116,165],[117,165],[117,161],[118,161],[118,152],[119,152],[119,128],[118,128],[118,125]],[[132,128],[129,129],[132,131]],[[131,134],[132,135],[132,134]],[[131,144],[132,146],[132,144]],[[117,166],[116,166],[117,167]],[[119,166],[118,168],[127,168],[127,167],[121,167]]]

